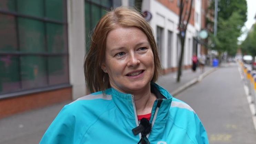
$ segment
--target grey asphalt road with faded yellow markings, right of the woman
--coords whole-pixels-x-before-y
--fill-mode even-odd
[[[256,131],[238,66],[220,68],[176,96],[203,122],[211,144],[256,144]]]

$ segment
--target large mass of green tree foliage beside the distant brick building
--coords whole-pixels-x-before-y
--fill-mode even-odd
[[[211,7],[214,9],[214,1]],[[238,45],[237,38],[242,34],[241,29],[247,20],[246,0],[219,0],[217,37],[212,37],[215,43],[213,49],[219,53],[227,52],[235,55]]]

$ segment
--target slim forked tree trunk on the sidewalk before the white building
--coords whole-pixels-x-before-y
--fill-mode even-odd
[[[192,10],[192,3],[193,0],[181,0],[180,2],[180,18],[179,18],[179,25],[178,29],[180,30],[180,33],[178,34],[180,41],[181,41],[181,55],[178,63],[178,72],[177,72],[177,82],[180,82],[180,76],[182,71],[182,61],[183,61],[183,55],[184,55],[184,44],[185,44],[185,38],[186,38],[186,31],[187,31],[187,25],[190,21],[191,16],[191,10]],[[187,11],[189,9],[189,11]]]

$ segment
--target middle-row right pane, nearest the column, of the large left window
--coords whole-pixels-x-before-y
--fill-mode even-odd
[[[65,27],[54,23],[47,23],[46,27],[48,52],[67,52],[63,32]]]

